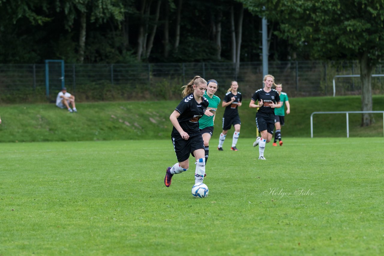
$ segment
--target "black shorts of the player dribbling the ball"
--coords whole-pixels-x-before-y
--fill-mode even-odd
[[[195,135],[189,137],[188,140],[184,140],[182,137],[171,137],[173,147],[175,149],[177,161],[184,162],[189,159],[189,155],[197,149],[204,149],[204,141],[201,135]]]

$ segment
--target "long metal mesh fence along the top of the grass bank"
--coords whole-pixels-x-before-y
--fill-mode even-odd
[[[58,64],[49,68],[49,98],[61,89]],[[56,65],[56,66],[55,66]],[[382,73],[382,64],[373,74]],[[275,83],[283,84],[290,97],[331,96],[336,75],[359,74],[357,61],[281,61],[270,62],[269,73]],[[46,99],[45,64],[0,64],[0,101],[20,102]],[[233,63],[147,63],[147,64],[65,64],[65,86],[83,101],[171,99],[180,97],[180,87],[200,75],[216,79],[218,93],[238,81],[243,97],[251,97],[262,87],[262,62],[240,63],[236,73]],[[383,70],[384,71],[384,70]],[[384,92],[384,78],[372,77],[374,93]],[[336,96],[360,94],[360,78],[338,78]]]

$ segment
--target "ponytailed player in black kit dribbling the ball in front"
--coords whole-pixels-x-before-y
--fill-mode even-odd
[[[196,158],[195,183],[203,182],[205,174],[204,142],[199,130],[199,119],[209,104],[204,97],[207,81],[195,76],[183,88],[184,99],[169,117],[173,124],[171,137],[178,162],[167,168],[164,177],[164,184],[167,187],[170,186],[174,174],[188,170],[191,153]],[[206,115],[214,114],[207,111]]]

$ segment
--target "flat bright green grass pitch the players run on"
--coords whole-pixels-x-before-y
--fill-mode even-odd
[[[2,143],[0,255],[384,254],[382,137],[217,142],[203,199],[170,139]]]

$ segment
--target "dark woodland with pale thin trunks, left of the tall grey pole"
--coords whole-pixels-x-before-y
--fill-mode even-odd
[[[234,0],[0,0],[0,16],[0,63],[260,59],[260,18]]]

